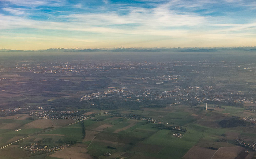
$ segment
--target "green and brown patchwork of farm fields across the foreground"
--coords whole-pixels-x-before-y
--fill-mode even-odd
[[[182,126],[187,130],[186,132],[162,129],[157,127],[158,123],[117,117],[111,113],[95,115],[93,118],[75,124],[71,124],[75,120],[66,119],[32,120],[25,114],[1,117],[0,147],[12,144],[0,150],[0,158],[253,158],[255,152],[237,146],[234,139],[243,138],[248,141],[255,141],[256,127],[254,125],[234,128],[221,128],[218,125],[218,121],[229,116],[227,114],[234,115],[241,110],[249,113],[247,110],[228,106],[225,110],[214,108],[208,112],[201,111],[201,109],[200,106],[191,108],[176,105],[169,108],[159,108],[157,111],[154,108],[115,111],[115,113],[151,117],[168,126]],[[180,133],[181,137],[174,136],[175,133]],[[17,140],[20,141],[15,142]],[[48,147],[57,145],[66,145],[66,147],[63,150],[48,154],[39,152],[30,154],[29,151],[20,148],[21,145],[31,143],[39,143]],[[19,155],[16,155],[16,152]]]

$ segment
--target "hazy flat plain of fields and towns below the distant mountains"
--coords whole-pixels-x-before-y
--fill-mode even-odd
[[[0,158],[252,159],[255,63],[199,55],[3,57]]]

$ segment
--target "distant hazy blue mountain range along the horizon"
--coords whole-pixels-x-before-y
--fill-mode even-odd
[[[256,47],[216,47],[216,48],[50,48],[44,50],[0,49],[0,52],[222,52],[222,51],[256,51]]]

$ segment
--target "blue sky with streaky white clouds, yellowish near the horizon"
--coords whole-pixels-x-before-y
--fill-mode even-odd
[[[0,0],[0,49],[255,45],[255,0]]]

